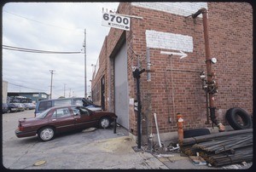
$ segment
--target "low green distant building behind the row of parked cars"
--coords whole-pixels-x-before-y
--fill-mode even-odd
[[[49,95],[46,93],[42,92],[9,92],[7,94],[9,97],[14,97],[14,96],[23,96],[28,99],[31,99],[32,102],[37,103],[39,100],[48,100]]]

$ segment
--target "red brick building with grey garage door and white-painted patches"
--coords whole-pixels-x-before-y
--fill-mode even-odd
[[[202,14],[208,12],[209,47],[218,62],[216,116],[228,125],[225,112],[241,107],[253,113],[253,9],[249,3],[119,3],[117,14],[131,18],[131,30],[111,28],[102,44],[92,79],[92,99],[118,115],[118,123],[137,135],[136,80],[132,66],[147,69],[140,78],[143,136],[155,134],[157,114],[161,139],[177,135],[177,113],[184,129],[211,128],[206,124],[206,92],[201,72],[207,72]],[[147,58],[148,49],[148,58]],[[161,51],[187,54],[161,54]],[[153,72],[154,71],[154,72]],[[147,80],[148,76],[150,81]],[[215,125],[216,127],[216,125]]]

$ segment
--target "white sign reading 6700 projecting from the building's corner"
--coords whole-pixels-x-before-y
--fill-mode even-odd
[[[130,17],[113,13],[102,13],[102,26],[110,26],[130,31]]]

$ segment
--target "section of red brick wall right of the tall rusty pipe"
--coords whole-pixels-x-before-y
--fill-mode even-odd
[[[249,3],[209,3],[212,55],[218,57],[217,106],[253,113],[253,9]]]

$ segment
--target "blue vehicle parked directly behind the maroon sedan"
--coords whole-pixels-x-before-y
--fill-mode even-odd
[[[35,109],[35,117],[41,112],[54,106],[84,106],[91,111],[102,111],[101,106],[93,104],[90,100],[86,100],[80,97],[71,97],[64,99],[51,99],[51,100],[40,100]]]

